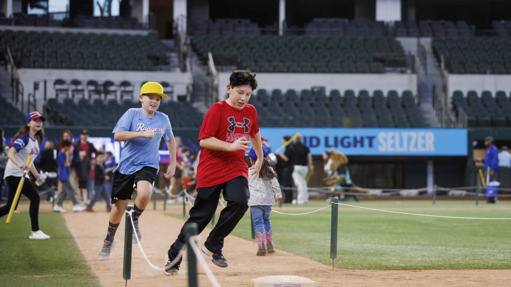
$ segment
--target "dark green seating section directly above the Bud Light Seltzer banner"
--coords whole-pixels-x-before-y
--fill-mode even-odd
[[[341,95],[332,89],[296,91],[257,89],[251,97],[263,127],[364,127],[364,128],[424,128],[426,124],[410,91],[399,96],[389,90],[367,90],[358,94],[345,90]]]

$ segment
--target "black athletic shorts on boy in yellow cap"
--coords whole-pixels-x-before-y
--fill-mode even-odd
[[[157,170],[155,168],[150,168],[149,166],[144,166],[141,170],[138,170],[131,175],[125,175],[118,171],[114,172],[112,185],[112,204],[118,200],[131,199],[133,192],[136,191],[136,183],[138,181],[145,180],[154,185],[156,174]]]

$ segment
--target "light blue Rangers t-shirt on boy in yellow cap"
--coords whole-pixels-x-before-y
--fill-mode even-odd
[[[154,130],[154,138],[137,137],[124,142],[119,165],[114,172],[129,175],[144,166],[150,166],[159,171],[159,146],[161,138],[168,141],[174,136],[169,116],[156,111],[155,116],[149,117],[142,112],[142,108],[128,109],[119,119],[112,133],[122,131],[142,132]]]

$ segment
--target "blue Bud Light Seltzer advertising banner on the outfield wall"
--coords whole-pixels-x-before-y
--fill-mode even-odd
[[[333,148],[360,156],[467,156],[466,129],[261,128],[273,151],[299,133],[312,155]]]

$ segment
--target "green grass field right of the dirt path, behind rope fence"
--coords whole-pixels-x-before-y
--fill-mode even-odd
[[[341,202],[344,203],[344,202]],[[399,212],[450,217],[511,218],[511,203],[474,201],[361,201],[348,204]],[[304,213],[327,206],[274,210]],[[251,239],[250,212],[232,234]],[[176,214],[176,217],[178,215]],[[181,215],[180,215],[181,216]],[[217,214],[218,216],[218,214]],[[339,206],[335,267],[365,270],[511,269],[511,220],[411,216]],[[272,212],[274,243],[279,249],[332,265],[331,208],[301,216]]]

